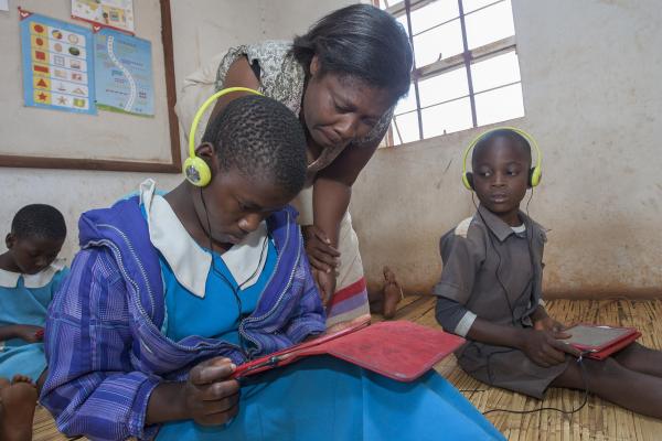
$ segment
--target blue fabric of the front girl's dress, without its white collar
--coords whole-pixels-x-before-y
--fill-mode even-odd
[[[209,252],[209,251],[207,251]],[[243,313],[249,313],[271,276],[277,259],[268,240],[257,281],[239,290]],[[238,344],[237,289],[218,255],[215,271],[200,298],[178,282],[161,258],[166,287],[166,334],[217,336]],[[217,272],[223,276],[218,276]],[[224,278],[226,280],[224,280]],[[228,423],[166,423],[163,440],[503,440],[478,410],[435,372],[414,383],[398,383],[330,356],[316,356],[242,380],[239,412]]]

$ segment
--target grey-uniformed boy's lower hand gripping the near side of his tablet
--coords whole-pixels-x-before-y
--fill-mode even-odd
[[[569,336],[563,332],[525,329],[520,349],[538,366],[555,366],[565,362],[565,354],[579,356],[579,349],[559,341]]]

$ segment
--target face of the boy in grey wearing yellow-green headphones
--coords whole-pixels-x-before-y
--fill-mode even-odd
[[[480,203],[508,223],[526,194],[531,158],[510,138],[488,142],[473,154],[473,186]]]

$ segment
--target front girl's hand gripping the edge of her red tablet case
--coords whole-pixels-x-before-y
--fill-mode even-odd
[[[182,389],[186,415],[202,426],[218,426],[237,415],[239,383],[229,379],[236,366],[215,357],[191,369]]]

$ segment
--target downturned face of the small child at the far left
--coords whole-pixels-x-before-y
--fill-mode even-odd
[[[7,235],[6,240],[14,263],[24,275],[35,275],[53,263],[64,244],[64,238],[20,238],[12,233]]]

